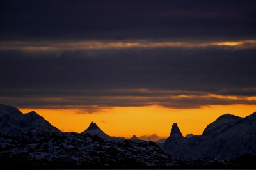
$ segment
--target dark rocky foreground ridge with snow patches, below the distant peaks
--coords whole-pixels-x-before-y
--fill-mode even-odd
[[[237,160],[180,160],[154,142],[107,141],[91,134],[31,131],[0,132],[0,164],[19,169],[204,168],[255,169],[255,155]]]

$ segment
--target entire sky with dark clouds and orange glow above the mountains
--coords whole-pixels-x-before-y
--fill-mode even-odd
[[[201,135],[256,111],[256,1],[0,1],[0,103],[65,132]]]

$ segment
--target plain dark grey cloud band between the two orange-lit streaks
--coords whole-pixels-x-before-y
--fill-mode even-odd
[[[156,88],[232,95],[232,89],[237,93],[256,84],[256,49],[2,50],[0,54],[2,91]]]

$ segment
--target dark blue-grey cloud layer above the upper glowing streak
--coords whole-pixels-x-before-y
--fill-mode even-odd
[[[1,40],[256,36],[255,1],[1,1]]]

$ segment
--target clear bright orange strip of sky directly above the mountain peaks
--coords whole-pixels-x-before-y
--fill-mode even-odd
[[[23,113],[35,111],[52,125],[65,132],[83,132],[91,121],[108,135],[126,138],[136,135],[170,135],[177,123],[185,136],[201,135],[204,128],[223,114],[245,117],[256,111],[255,105],[210,105],[199,109],[170,109],[166,107],[112,107],[93,114],[78,109],[20,109]]]

